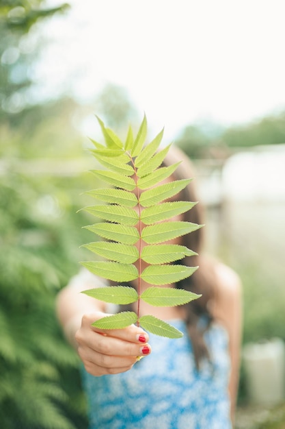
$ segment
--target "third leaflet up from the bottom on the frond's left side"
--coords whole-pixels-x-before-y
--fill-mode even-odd
[[[138,278],[135,265],[120,264],[120,262],[87,261],[81,262],[83,267],[89,269],[95,275],[113,280],[114,282],[131,282]]]

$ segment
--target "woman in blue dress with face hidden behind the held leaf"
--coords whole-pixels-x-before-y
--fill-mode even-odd
[[[180,160],[171,180],[193,177],[191,162],[175,147],[163,164]],[[197,201],[193,182],[176,199]],[[178,218],[203,223],[201,204]],[[80,293],[107,286],[87,270],[59,293],[59,321],[84,366],[90,429],[232,427],[239,378],[241,284],[230,268],[204,256],[203,232],[204,228],[176,239],[199,254],[182,262],[200,268],[190,278],[166,285],[202,297],[185,306],[153,307],[141,302],[140,307],[141,315],[167,320],[184,332],[182,339],[154,336],[137,326],[105,331],[92,327],[92,322],[118,308]],[[136,287],[136,282],[130,286]]]

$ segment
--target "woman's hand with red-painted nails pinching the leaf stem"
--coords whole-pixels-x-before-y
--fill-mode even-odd
[[[99,330],[91,326],[105,316],[102,312],[84,315],[75,334],[79,356],[92,376],[128,371],[139,356],[147,356],[151,352],[148,334],[135,325],[114,330]]]

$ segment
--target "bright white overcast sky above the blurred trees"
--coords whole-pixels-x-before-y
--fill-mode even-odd
[[[58,3],[50,1],[51,4]],[[244,123],[285,108],[284,0],[72,0],[40,27],[42,93],[126,87],[150,125]]]

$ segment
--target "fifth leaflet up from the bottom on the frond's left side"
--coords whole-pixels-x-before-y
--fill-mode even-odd
[[[94,232],[107,240],[118,241],[119,243],[134,245],[139,240],[139,232],[133,226],[124,226],[119,223],[99,222],[94,225],[85,226],[87,230]]]

